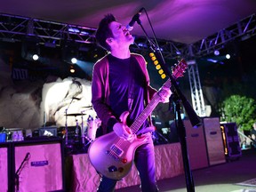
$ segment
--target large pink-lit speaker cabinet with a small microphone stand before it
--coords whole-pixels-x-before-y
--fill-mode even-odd
[[[64,189],[62,140],[14,143],[15,191]]]

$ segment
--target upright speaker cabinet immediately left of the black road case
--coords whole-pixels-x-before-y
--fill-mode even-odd
[[[203,118],[203,122],[209,164],[214,165],[225,163],[226,158],[220,130],[220,118]]]

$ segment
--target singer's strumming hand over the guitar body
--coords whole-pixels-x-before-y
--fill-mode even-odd
[[[116,123],[113,126],[113,130],[118,137],[123,138],[124,140],[132,140],[134,137],[131,129],[126,124]]]

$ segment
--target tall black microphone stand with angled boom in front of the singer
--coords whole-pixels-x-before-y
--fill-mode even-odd
[[[145,9],[144,9],[145,10]],[[145,10],[146,12],[146,10]],[[147,14],[147,12],[146,12]],[[148,14],[147,14],[148,16]],[[148,19],[149,20],[149,19]],[[149,20],[150,22],[150,20]],[[188,100],[186,99],[186,97],[183,95],[183,93],[180,91],[180,88],[176,82],[176,80],[174,79],[174,77],[172,76],[172,74],[170,73],[170,71],[168,70],[168,68],[166,68],[166,64],[164,61],[164,57],[162,55],[162,52],[159,49],[159,46],[157,44],[156,41],[156,36],[155,36],[155,32],[151,26],[150,26],[153,30],[154,36],[155,36],[155,41],[156,44],[154,44],[149,38],[148,38],[148,34],[146,32],[146,30],[143,28],[143,26],[141,25],[141,21],[138,18],[137,23],[140,25],[140,27],[142,28],[142,30],[144,31],[147,39],[148,39],[148,43],[150,44],[150,49],[155,52],[156,58],[157,60],[159,60],[160,66],[161,68],[164,70],[164,74],[166,76],[169,76],[171,83],[172,83],[172,97],[170,98],[170,102],[171,100],[174,101],[176,107],[176,121],[177,121],[177,125],[176,128],[178,129],[178,134],[179,134],[179,138],[180,138],[180,146],[181,146],[181,150],[182,150],[182,158],[183,158],[183,166],[184,166],[184,172],[185,172],[185,179],[186,179],[186,184],[187,184],[187,191],[188,192],[194,192],[195,191],[195,185],[194,185],[194,180],[193,180],[193,176],[192,176],[192,172],[190,170],[190,164],[189,164],[189,158],[188,158],[188,148],[187,148],[187,140],[186,140],[186,130],[185,130],[185,126],[183,124],[183,121],[181,119],[181,115],[180,115],[180,101],[183,104],[183,107],[185,108],[187,114],[188,114],[188,118],[190,120],[190,123],[192,124],[192,126],[194,128],[197,128],[199,125],[201,125],[201,120],[200,118],[196,115],[195,110],[191,107],[191,105],[189,104]]]

